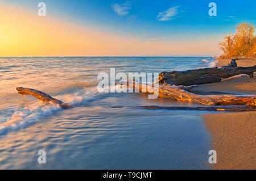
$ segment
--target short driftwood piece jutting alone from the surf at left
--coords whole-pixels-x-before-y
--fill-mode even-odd
[[[35,89],[28,89],[28,88],[23,88],[23,87],[16,87],[16,90],[18,91],[18,94],[21,95],[32,95],[35,98],[42,100],[43,102],[49,102],[52,104],[57,104],[63,108],[70,108],[72,107],[71,105],[63,103],[61,100],[52,98],[48,94],[35,90]]]

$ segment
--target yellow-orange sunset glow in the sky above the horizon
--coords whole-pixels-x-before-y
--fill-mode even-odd
[[[152,41],[115,36],[18,7],[0,6],[0,56],[177,56],[218,54],[218,41]]]

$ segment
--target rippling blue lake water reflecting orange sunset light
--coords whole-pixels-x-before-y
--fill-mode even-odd
[[[193,106],[141,93],[100,93],[97,75],[214,66],[211,57],[1,57],[0,169],[209,169],[207,111],[129,106]],[[70,109],[23,98],[40,90]],[[38,151],[46,151],[46,164]]]

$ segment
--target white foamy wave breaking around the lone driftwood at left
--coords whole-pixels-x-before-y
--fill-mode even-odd
[[[55,98],[62,100],[64,103],[77,106],[79,103],[85,103],[102,94],[96,89],[97,87],[85,88],[73,94],[55,96]],[[17,131],[20,128],[26,128],[61,109],[58,105],[46,104],[40,101],[24,105],[22,108],[17,106],[11,116],[0,117],[0,136],[11,131]]]

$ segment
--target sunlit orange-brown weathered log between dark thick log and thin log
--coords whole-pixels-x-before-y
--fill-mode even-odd
[[[130,84],[133,84],[131,86]],[[130,85],[130,86],[129,86]],[[143,85],[141,82],[128,79],[126,86],[139,89],[141,92],[146,87],[146,93],[151,94],[158,91],[160,98],[176,99],[184,102],[192,102],[204,104],[208,106],[235,106],[235,105],[251,105],[256,106],[255,95],[197,95],[187,91],[185,86],[165,86],[159,85],[159,89],[154,89],[153,85]],[[142,88],[143,87],[143,88]]]

